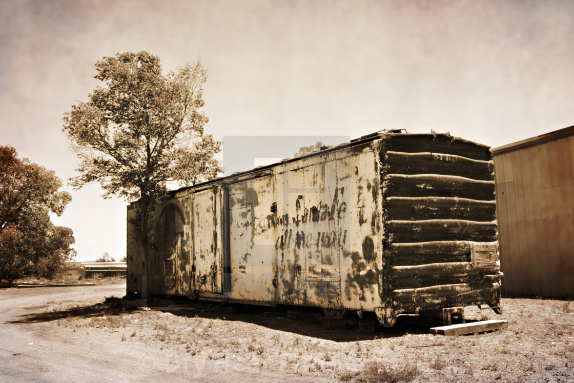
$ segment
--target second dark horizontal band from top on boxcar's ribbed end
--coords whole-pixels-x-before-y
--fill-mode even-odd
[[[441,174],[494,180],[492,161],[471,160],[454,154],[386,152],[385,165],[388,173]]]

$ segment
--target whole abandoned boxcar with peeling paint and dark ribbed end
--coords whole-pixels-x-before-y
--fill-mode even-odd
[[[468,305],[500,312],[495,210],[488,146],[374,133],[172,192],[156,210],[150,293],[370,311],[384,326]],[[141,292],[130,233],[127,264],[127,292]]]

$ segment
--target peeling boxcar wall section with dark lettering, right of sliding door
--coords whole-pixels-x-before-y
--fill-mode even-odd
[[[371,225],[378,220],[378,177],[372,149],[362,150],[277,168],[278,302],[371,310],[379,304],[380,241],[378,224]]]

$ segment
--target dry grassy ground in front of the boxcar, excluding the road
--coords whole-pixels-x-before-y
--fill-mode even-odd
[[[263,374],[262,380],[274,376],[281,381],[328,382],[574,380],[571,303],[505,299],[504,304],[507,330],[457,337],[400,324],[363,334],[256,314],[123,311],[121,298],[114,296],[92,306],[95,312],[73,303],[46,313],[64,330],[95,330],[126,347],[169,349],[183,358],[205,361],[206,371],[224,367],[230,379]],[[469,308],[467,318],[501,317]]]

